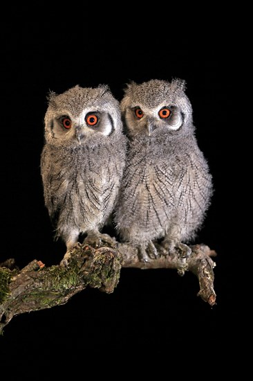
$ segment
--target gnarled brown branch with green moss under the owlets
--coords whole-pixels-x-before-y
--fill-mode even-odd
[[[193,245],[191,255],[182,258],[179,252],[164,256],[157,248],[158,258],[148,263],[139,260],[135,247],[119,242],[115,242],[114,248],[77,245],[71,251],[68,267],[46,267],[36,259],[21,270],[12,258],[0,263],[0,333],[18,314],[62,305],[86,287],[113,292],[122,267],[176,269],[180,276],[192,272],[198,278],[198,296],[211,306],[216,304],[213,271],[216,264],[211,258],[216,256],[214,250],[206,245]]]

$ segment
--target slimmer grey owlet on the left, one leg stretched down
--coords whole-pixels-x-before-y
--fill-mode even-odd
[[[81,236],[85,242],[114,242],[101,229],[118,197],[126,137],[119,102],[107,85],[50,93],[44,127],[44,201],[55,238],[66,244],[61,264],[67,265]]]

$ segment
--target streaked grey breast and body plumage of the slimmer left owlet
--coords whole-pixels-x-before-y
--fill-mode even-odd
[[[122,164],[109,154],[113,151],[120,154],[115,147],[102,145],[45,148],[44,161],[54,163],[47,171],[45,200],[51,217],[58,220],[59,236],[61,226],[85,233],[102,227],[109,217],[122,175]]]

